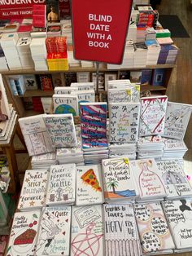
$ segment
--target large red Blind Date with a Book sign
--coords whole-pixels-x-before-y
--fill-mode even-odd
[[[72,0],[77,60],[120,64],[133,0]]]

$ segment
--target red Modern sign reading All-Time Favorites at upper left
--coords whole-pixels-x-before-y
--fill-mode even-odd
[[[46,0],[0,0],[0,20],[32,18],[33,4]]]

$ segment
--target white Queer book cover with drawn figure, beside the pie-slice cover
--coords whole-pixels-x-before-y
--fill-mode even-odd
[[[69,255],[71,211],[71,206],[43,208],[35,255]]]

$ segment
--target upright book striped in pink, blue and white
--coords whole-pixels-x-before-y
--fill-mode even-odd
[[[106,138],[107,103],[81,103],[80,110],[82,138]]]

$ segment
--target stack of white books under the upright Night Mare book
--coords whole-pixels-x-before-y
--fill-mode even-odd
[[[153,157],[161,159],[164,153],[164,141],[160,135],[140,137],[137,141],[137,159]]]

